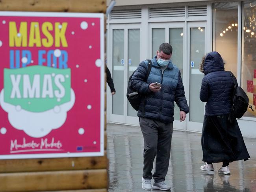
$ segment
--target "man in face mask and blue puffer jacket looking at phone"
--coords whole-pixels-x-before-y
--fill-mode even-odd
[[[180,107],[180,121],[184,121],[189,112],[185,98],[180,70],[171,59],[173,48],[169,43],[160,45],[156,57],[152,59],[152,68],[145,82],[148,63],[142,61],[131,79],[137,92],[145,95],[138,110],[139,124],[144,137],[144,168],[142,188],[145,190],[169,190],[165,183],[168,171],[171,139],[173,134],[174,101]],[[154,86],[155,82],[161,86]],[[152,175],[156,157],[156,171]],[[154,183],[151,185],[151,179]]]

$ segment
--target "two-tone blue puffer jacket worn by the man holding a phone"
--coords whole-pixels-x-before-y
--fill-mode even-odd
[[[131,79],[134,89],[146,94],[145,100],[139,105],[138,116],[158,120],[163,123],[173,122],[174,101],[181,111],[188,113],[189,107],[185,98],[180,70],[169,61],[167,68],[162,74],[156,57],[154,57],[152,59],[150,75],[147,82],[145,82],[147,68],[148,63],[142,61]],[[149,89],[149,84],[154,82],[162,84],[159,92],[152,92]]]

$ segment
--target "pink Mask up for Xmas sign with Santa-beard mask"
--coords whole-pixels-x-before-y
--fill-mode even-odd
[[[0,12],[0,159],[104,155],[104,15]]]

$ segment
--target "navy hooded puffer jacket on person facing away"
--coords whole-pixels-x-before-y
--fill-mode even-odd
[[[218,52],[206,55],[204,78],[200,90],[200,100],[206,103],[205,115],[228,114],[231,111],[231,97],[234,81],[229,72],[224,70],[224,63]]]

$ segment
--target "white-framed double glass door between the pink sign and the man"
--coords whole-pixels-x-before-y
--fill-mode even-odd
[[[130,75],[141,61],[140,24],[113,24],[110,32],[108,67],[112,71],[116,94],[108,96],[109,121],[139,125],[137,111],[126,98],[126,89]]]

